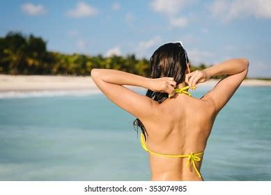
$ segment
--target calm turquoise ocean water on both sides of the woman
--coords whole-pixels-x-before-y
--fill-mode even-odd
[[[0,93],[0,180],[149,180],[133,120],[97,92]],[[217,116],[201,173],[271,180],[270,162],[271,87],[242,86]]]

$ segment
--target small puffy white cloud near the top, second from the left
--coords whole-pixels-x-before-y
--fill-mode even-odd
[[[91,17],[99,13],[97,8],[89,6],[88,3],[79,2],[76,8],[68,10],[67,14],[70,17]]]

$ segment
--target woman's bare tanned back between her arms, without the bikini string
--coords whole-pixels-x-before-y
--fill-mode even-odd
[[[144,123],[148,132],[146,146],[167,155],[201,153],[206,148],[215,120],[212,102],[185,94],[176,94],[157,107],[156,123]],[[200,170],[201,161],[196,162]],[[187,157],[159,157],[150,154],[151,180],[202,180]]]

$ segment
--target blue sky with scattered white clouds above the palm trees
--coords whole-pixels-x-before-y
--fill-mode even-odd
[[[71,54],[146,57],[182,40],[189,60],[215,64],[245,57],[249,77],[271,77],[271,1],[2,0],[0,36],[41,36],[47,49]]]

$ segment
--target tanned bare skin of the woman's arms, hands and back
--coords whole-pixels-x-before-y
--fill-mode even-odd
[[[93,69],[91,78],[100,91],[118,107],[139,118],[148,131],[146,146],[155,153],[186,155],[200,153],[206,143],[219,111],[230,100],[245,79],[249,67],[247,59],[231,59],[210,68],[190,72],[178,86],[171,77],[150,79],[119,70]],[[174,88],[197,86],[214,75],[227,75],[200,99],[184,93],[161,104],[123,85],[141,86],[152,91],[174,94]],[[200,171],[201,161],[196,162]],[[203,180],[192,166],[185,167],[187,157],[158,157],[150,154],[151,180]]]

